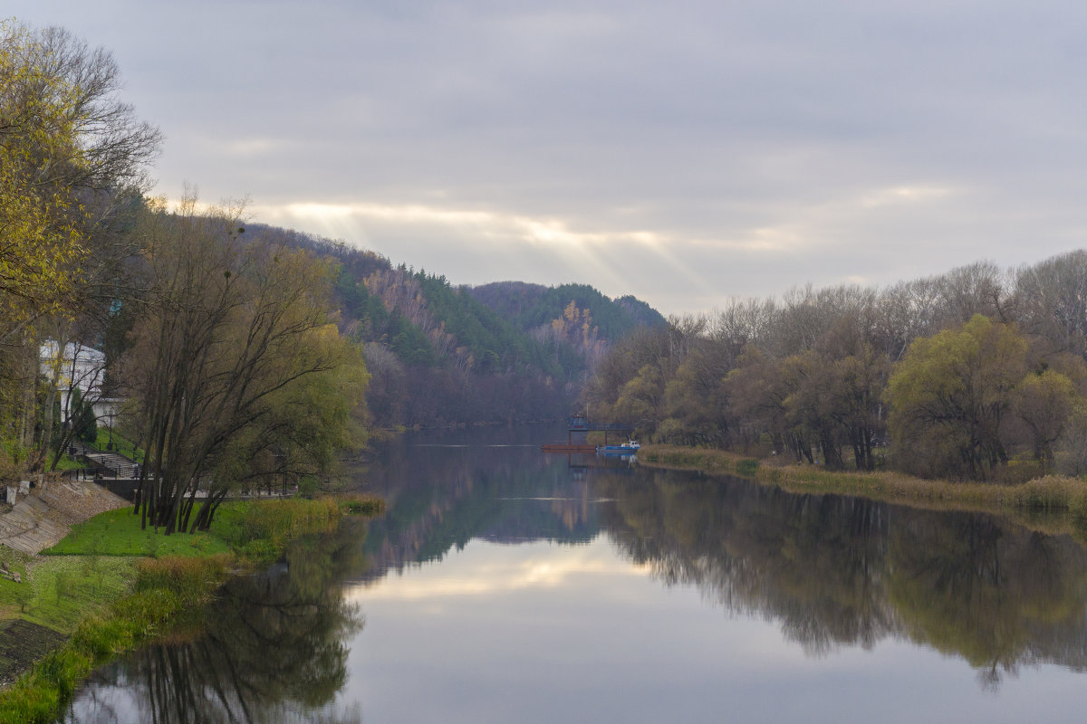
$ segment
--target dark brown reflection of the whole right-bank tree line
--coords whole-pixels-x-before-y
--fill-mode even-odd
[[[1020,666],[1087,670],[1087,551],[992,516],[934,512],[739,480],[598,478],[602,517],[665,585],[779,622],[809,655],[912,640],[982,685]]]

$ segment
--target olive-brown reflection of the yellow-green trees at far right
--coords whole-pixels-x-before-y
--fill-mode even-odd
[[[914,640],[955,653],[996,685],[1021,665],[1087,666],[1087,556],[987,516],[900,516],[889,597]]]

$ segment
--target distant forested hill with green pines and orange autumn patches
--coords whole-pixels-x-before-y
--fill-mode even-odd
[[[264,225],[249,233],[335,263],[341,330],[364,350],[379,425],[562,418],[615,341],[666,325],[645,302],[587,284],[454,287],[341,242]]]

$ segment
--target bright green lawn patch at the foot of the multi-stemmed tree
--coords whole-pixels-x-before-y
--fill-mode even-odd
[[[140,530],[140,517],[132,508],[110,510],[78,523],[43,556],[210,556],[230,549],[226,542],[229,523],[218,516],[210,533],[163,535],[150,526]]]

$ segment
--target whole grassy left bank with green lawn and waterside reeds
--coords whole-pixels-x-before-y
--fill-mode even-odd
[[[10,568],[22,567],[27,583],[0,580],[0,606],[20,615],[11,608],[18,601],[7,597],[33,595],[37,613],[28,615],[24,607],[21,615],[71,636],[0,691],[0,724],[55,721],[96,668],[168,633],[185,612],[209,602],[230,571],[274,560],[291,538],[332,530],[352,506],[370,509],[379,503],[229,504],[216,515],[211,532],[197,536],[149,535],[130,509],[110,511],[75,526],[49,556],[13,559]],[[18,586],[26,588],[12,588]],[[64,598],[65,605],[50,609],[50,597]]]

